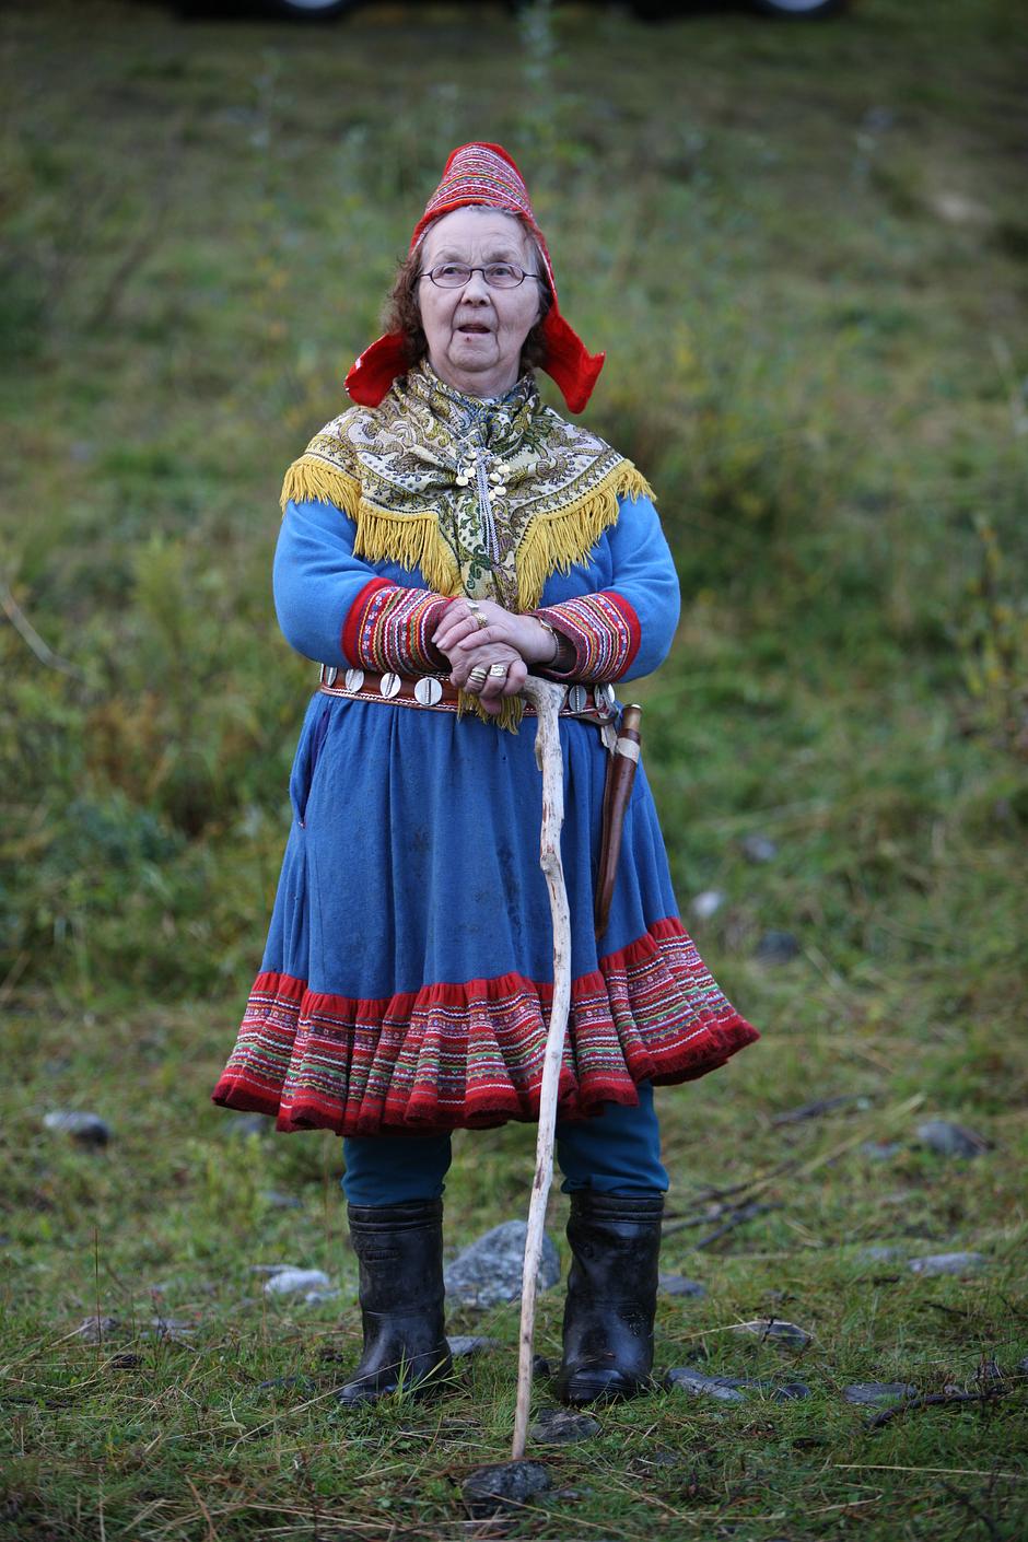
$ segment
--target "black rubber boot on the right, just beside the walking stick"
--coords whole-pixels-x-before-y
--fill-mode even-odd
[[[663,1194],[572,1194],[563,1403],[613,1402],[650,1388]]]

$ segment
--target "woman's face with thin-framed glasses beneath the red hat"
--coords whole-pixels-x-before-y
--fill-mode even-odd
[[[492,208],[455,208],[421,244],[421,273],[441,262],[485,267],[515,262],[538,271],[533,244],[513,214]],[[444,290],[418,279],[421,324],[428,362],[447,386],[465,396],[502,396],[519,375],[521,347],[541,315],[541,285],[527,278],[516,288],[490,288],[472,273],[464,288]]]

